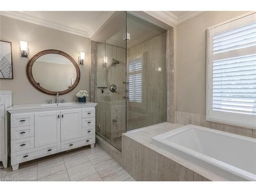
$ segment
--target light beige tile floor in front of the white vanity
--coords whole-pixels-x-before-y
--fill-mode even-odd
[[[0,169],[0,181],[135,181],[98,145]]]

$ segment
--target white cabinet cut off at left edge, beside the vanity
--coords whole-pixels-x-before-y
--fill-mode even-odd
[[[10,121],[7,108],[12,105],[12,91],[0,91],[0,161],[4,167],[8,164],[8,153],[10,145]]]

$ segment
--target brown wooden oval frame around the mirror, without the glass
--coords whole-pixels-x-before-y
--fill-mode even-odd
[[[37,58],[39,58],[40,56],[42,55],[46,55],[46,54],[59,54],[59,55],[62,55],[66,58],[68,58],[74,65],[75,69],[76,69],[76,80],[74,82],[74,84],[67,90],[64,90],[64,91],[60,91],[60,92],[57,92],[57,91],[49,91],[49,90],[46,90],[42,87],[40,87],[34,77],[33,77],[33,74],[32,74],[32,67],[34,65],[34,62],[36,61]],[[37,54],[35,54],[28,62],[27,64],[27,76],[28,76],[28,79],[30,81],[30,83],[32,84],[32,86],[34,86],[38,91],[42,92],[42,93],[46,93],[48,95],[56,95],[57,93],[59,93],[59,95],[63,95],[63,94],[66,94],[66,93],[69,93],[71,92],[78,84],[79,80],[80,80],[80,69],[79,69],[79,66],[77,65],[76,61],[70,56],[68,55],[67,53],[65,52],[62,52],[62,51],[58,51],[58,50],[54,50],[54,49],[48,49],[48,50],[45,50],[45,51],[41,51]]]

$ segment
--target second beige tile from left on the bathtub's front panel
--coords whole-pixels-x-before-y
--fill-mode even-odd
[[[138,144],[138,180],[158,181],[158,153]]]

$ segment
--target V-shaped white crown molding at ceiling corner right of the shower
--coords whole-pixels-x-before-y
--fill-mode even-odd
[[[204,11],[189,11],[179,17],[177,17],[175,14],[171,13],[170,11],[144,11],[146,14],[151,15],[159,20],[161,20],[163,23],[175,27],[186,20],[193,18]]]

